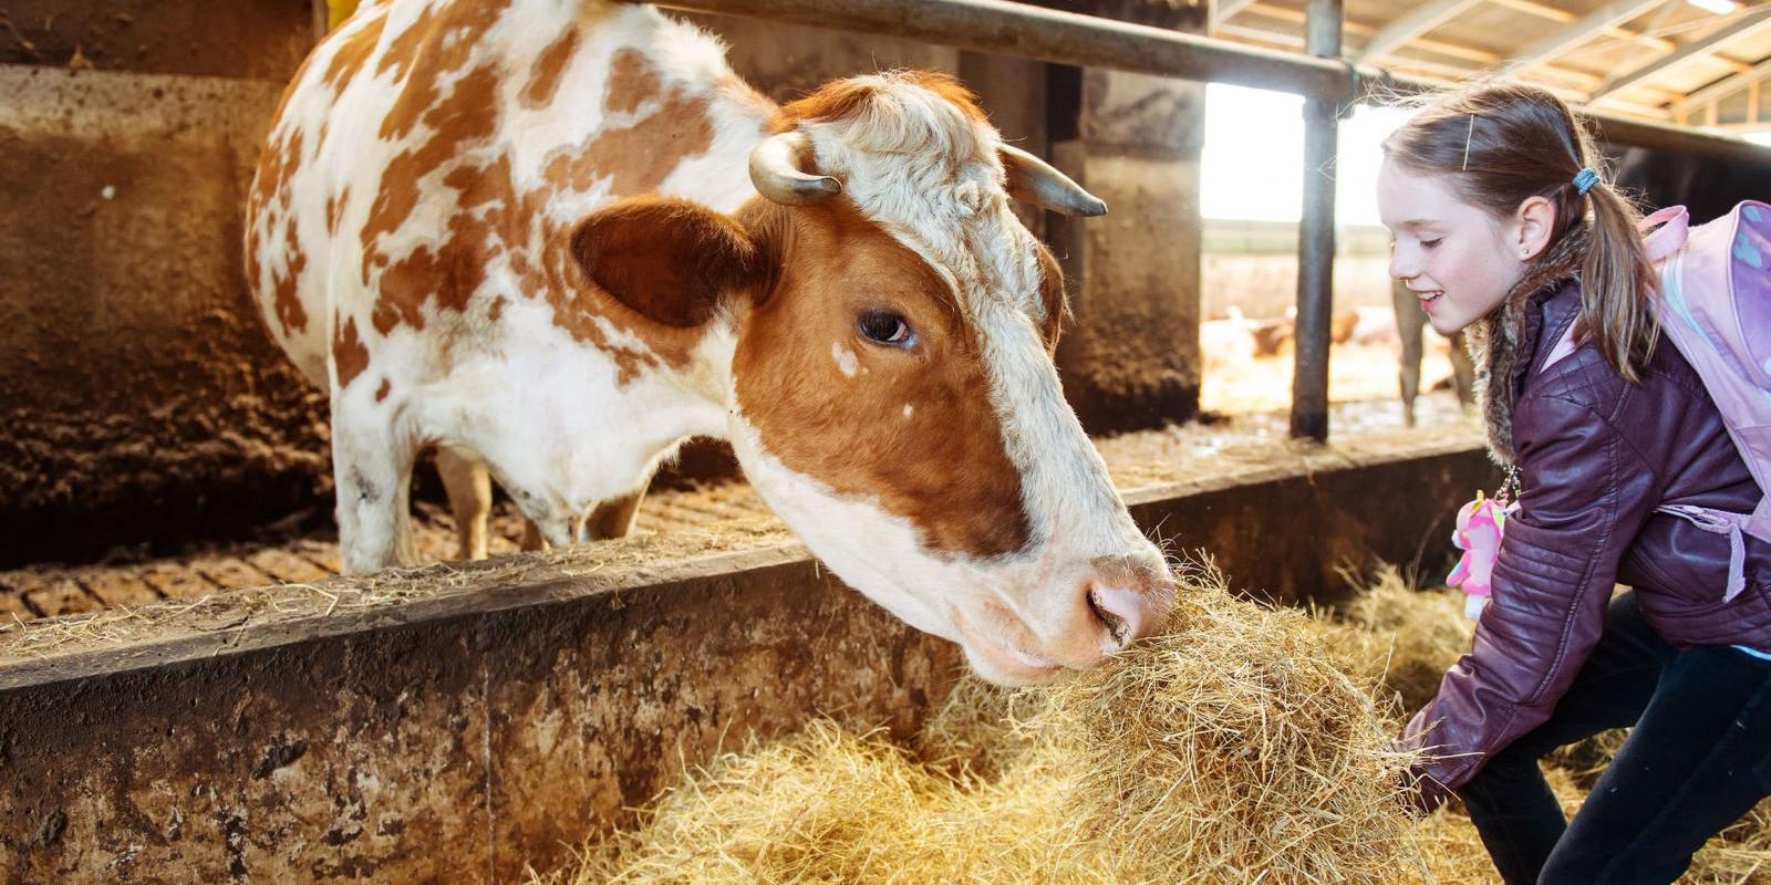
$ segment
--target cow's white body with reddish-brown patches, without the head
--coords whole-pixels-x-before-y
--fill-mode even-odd
[[[328,39],[273,131],[248,269],[271,335],[333,391],[335,455],[363,466],[340,474],[342,522],[352,496],[402,492],[423,441],[483,458],[563,543],[680,439],[724,435],[724,391],[687,356],[731,342],[646,336],[593,303],[565,232],[634,193],[737,209],[770,112],[646,7],[393,2]],[[398,561],[402,538],[345,559]]]

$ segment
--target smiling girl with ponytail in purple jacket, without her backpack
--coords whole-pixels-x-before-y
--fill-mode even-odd
[[[1473,333],[1488,441],[1521,489],[1473,650],[1403,735],[1433,754],[1420,807],[1461,796],[1509,883],[1672,881],[1771,793],[1771,545],[1748,538],[1725,600],[1728,538],[1658,512],[1748,513],[1760,490],[1656,345],[1638,218],[1597,166],[1555,96],[1488,85],[1404,124],[1378,179],[1390,273],[1435,329]],[[1566,821],[1537,759],[1626,726]]]

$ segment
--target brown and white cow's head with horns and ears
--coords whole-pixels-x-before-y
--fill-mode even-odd
[[[838,81],[777,129],[733,216],[643,198],[583,221],[592,280],[661,322],[724,329],[751,483],[843,581],[983,676],[1041,681],[1148,634],[1169,572],[1063,398],[1063,278],[1008,198],[1105,205],[1002,145],[944,78]]]

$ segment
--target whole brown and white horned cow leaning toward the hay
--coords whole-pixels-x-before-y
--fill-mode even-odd
[[[1063,281],[1011,193],[1105,211],[942,76],[781,108],[652,7],[390,0],[296,76],[246,266],[331,391],[347,570],[409,559],[423,446],[568,543],[726,437],[838,575],[1018,683],[1172,589],[1063,400]]]

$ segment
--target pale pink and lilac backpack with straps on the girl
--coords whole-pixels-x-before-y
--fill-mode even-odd
[[[1642,221],[1649,260],[1659,269],[1661,331],[1704,379],[1728,427],[1734,448],[1759,481],[1752,513],[1668,504],[1659,510],[1705,531],[1728,535],[1732,568],[1725,600],[1744,586],[1746,545],[1741,533],[1771,542],[1771,205],[1746,200],[1732,212],[1690,227],[1674,205]],[[1574,350],[1573,326],[1544,366]]]

